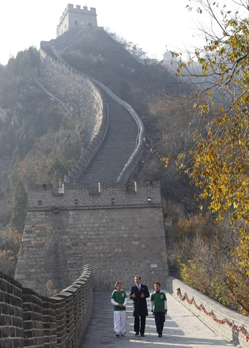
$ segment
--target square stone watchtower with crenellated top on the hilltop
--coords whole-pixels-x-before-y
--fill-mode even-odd
[[[74,8],[74,5],[68,3],[57,26],[57,37],[69,29],[84,29],[88,26],[97,26],[96,8],[88,10],[87,6],[83,6],[82,9],[79,5]]]

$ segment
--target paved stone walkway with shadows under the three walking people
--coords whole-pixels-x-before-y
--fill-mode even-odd
[[[156,333],[154,317],[150,312],[150,301],[148,301],[149,316],[146,318],[145,337],[134,336],[134,318],[132,317],[132,303],[130,300],[128,300],[127,305],[127,335],[124,338],[116,338],[113,331],[111,294],[95,292],[93,317],[82,348],[235,347],[211,331],[171,294],[166,292],[166,295],[168,315],[166,315],[162,338],[159,338]]]

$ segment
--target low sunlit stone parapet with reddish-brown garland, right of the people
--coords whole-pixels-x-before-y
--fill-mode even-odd
[[[211,330],[239,347],[249,348],[249,317],[230,310],[179,279],[168,277],[166,289]]]

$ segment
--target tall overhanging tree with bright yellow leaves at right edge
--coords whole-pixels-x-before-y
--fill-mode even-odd
[[[205,132],[195,133],[197,150],[179,155],[179,167],[202,189],[200,198],[209,200],[209,209],[218,214],[218,220],[228,213],[234,231],[239,228],[232,253],[249,276],[249,20],[217,3],[198,3],[217,21],[219,14],[223,16],[218,21],[222,33],[207,35],[207,45],[195,51],[207,85],[195,91],[199,103],[194,107],[206,119],[206,126]],[[184,69],[182,63],[180,68]]]

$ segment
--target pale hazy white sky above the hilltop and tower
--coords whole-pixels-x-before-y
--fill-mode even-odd
[[[0,63],[41,40],[56,38],[56,26],[67,3],[95,7],[98,26],[138,44],[150,56],[198,45],[198,16],[186,9],[188,0],[5,0],[1,2]],[[193,38],[194,35],[194,38]]]

